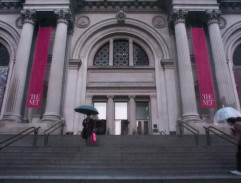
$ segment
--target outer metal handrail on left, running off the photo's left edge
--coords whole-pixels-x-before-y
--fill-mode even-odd
[[[9,146],[9,145],[11,145],[11,144],[13,144],[13,143],[16,142],[16,141],[18,141],[18,140],[20,140],[20,139],[28,136],[28,135],[31,134],[32,132],[34,132],[33,147],[36,147],[36,145],[37,145],[37,139],[38,139],[38,130],[39,130],[39,128],[40,128],[40,127],[37,127],[37,128],[36,128],[36,127],[30,127],[30,128],[28,128],[28,129],[26,129],[26,130],[24,130],[24,131],[19,132],[17,135],[14,135],[14,136],[12,136],[12,137],[10,137],[10,138],[8,138],[8,139],[0,142],[0,150],[2,150],[3,148],[5,148],[5,147],[7,147],[7,146]],[[29,131],[29,130],[30,130],[30,131]],[[29,131],[29,132],[27,132],[27,131]],[[25,133],[25,132],[27,132],[27,133]],[[24,133],[25,133],[25,134],[24,134]],[[24,135],[22,135],[22,134],[24,134]],[[21,136],[21,135],[22,135],[22,136]],[[16,139],[14,139],[14,138],[16,138]],[[12,140],[12,141],[11,141],[11,140]],[[8,141],[10,141],[10,142],[8,142]],[[5,144],[5,145],[3,145],[3,146],[1,146],[2,144],[6,143],[6,142],[8,142],[8,143]]]

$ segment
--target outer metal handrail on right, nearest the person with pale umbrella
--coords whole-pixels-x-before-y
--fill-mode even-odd
[[[233,137],[233,136],[231,136],[231,135],[229,135],[229,134],[227,134],[227,133],[225,133],[225,132],[223,132],[223,131],[221,131],[221,130],[213,127],[213,126],[209,126],[209,127],[205,127],[205,126],[204,126],[203,128],[204,128],[205,131],[206,131],[207,145],[208,145],[208,146],[211,145],[210,132],[212,132],[212,133],[214,133],[215,135],[217,135],[218,137],[221,137],[222,139],[230,142],[231,144],[237,145],[237,142],[234,142],[234,141],[230,140],[230,139],[235,139],[235,141],[236,141],[236,138],[235,138],[235,137]],[[219,133],[221,133],[221,134],[223,134],[223,135],[225,135],[225,136],[222,136],[222,135],[218,134],[218,133],[215,132],[214,130],[218,131]]]

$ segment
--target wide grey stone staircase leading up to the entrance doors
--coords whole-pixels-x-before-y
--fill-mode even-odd
[[[0,142],[10,135],[0,135]],[[97,136],[86,146],[79,135],[53,135],[44,147],[28,136],[0,150],[0,183],[240,183],[236,147],[217,136]]]

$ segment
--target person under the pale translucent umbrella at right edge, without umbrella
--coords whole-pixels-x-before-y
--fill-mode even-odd
[[[236,153],[237,170],[231,171],[231,173],[241,175],[241,117],[228,118],[227,123],[231,126],[232,133],[238,140],[238,150]]]

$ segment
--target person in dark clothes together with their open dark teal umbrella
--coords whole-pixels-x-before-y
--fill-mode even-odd
[[[82,122],[83,130],[81,136],[85,139],[86,145],[88,146],[90,145],[91,135],[95,129],[95,121],[90,116],[97,115],[99,112],[95,107],[88,105],[81,105],[76,107],[74,110],[76,112],[87,115],[87,117]]]

